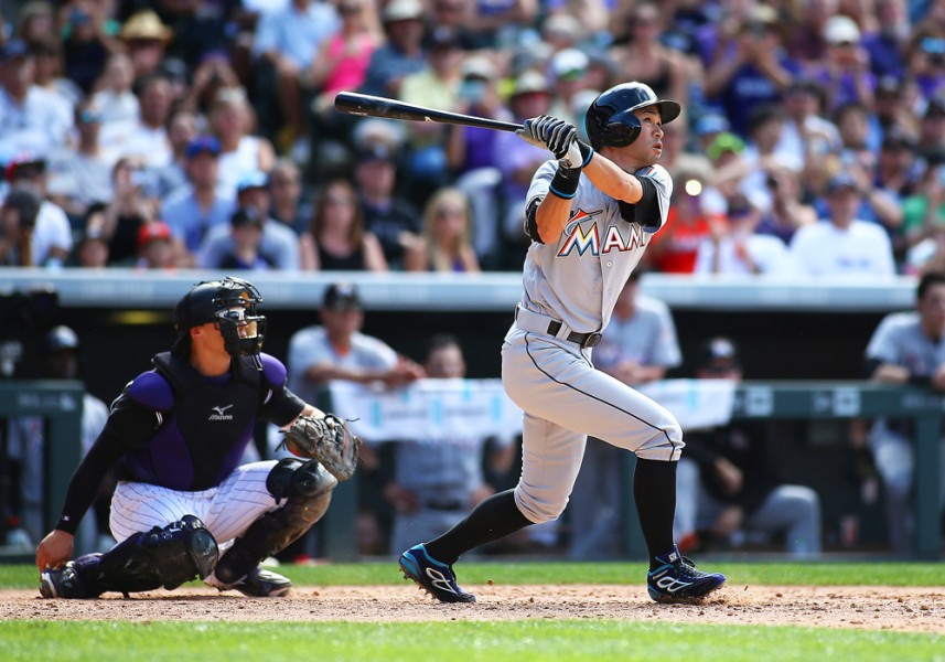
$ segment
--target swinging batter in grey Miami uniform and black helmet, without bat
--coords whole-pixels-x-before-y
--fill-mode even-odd
[[[522,476],[514,490],[401,554],[405,576],[439,600],[475,601],[452,570],[461,554],[561,514],[588,435],[637,456],[633,491],[649,554],[649,596],[699,599],[726,581],[697,569],[673,541],[679,424],[591,363],[618,296],[666,221],[673,181],[656,161],[663,124],[679,113],[679,104],[646,85],[625,83],[588,109],[590,146],[554,117],[526,120],[519,131],[557,159],[538,169],[528,190],[525,295],[502,346],[503,384],[525,412]]]

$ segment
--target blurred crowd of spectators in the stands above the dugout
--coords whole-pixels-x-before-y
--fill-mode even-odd
[[[0,265],[517,270],[541,150],[356,90],[583,130],[679,100],[655,271],[945,264],[942,0],[44,0],[0,30]],[[254,211],[248,211],[253,207]]]

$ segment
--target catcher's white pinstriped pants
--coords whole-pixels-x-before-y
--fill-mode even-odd
[[[195,515],[217,544],[226,546],[258,517],[284,502],[277,501],[266,489],[266,479],[275,466],[276,460],[243,465],[218,487],[201,492],[121,481],[111,498],[111,533],[120,543],[138,532],[153,526],[163,528],[184,515]]]

